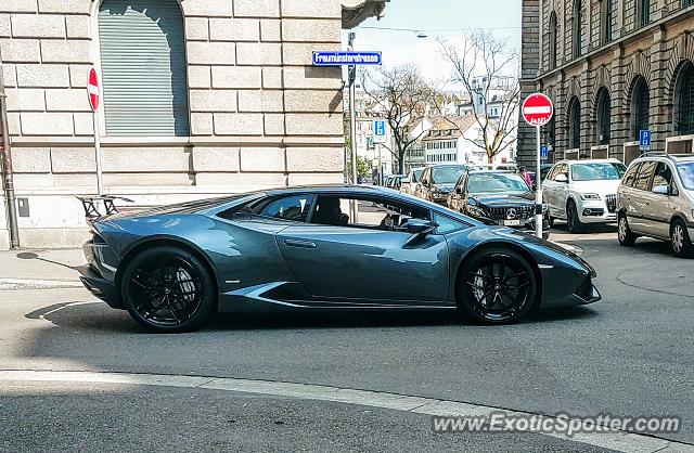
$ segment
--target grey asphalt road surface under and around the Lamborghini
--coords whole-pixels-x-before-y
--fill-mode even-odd
[[[683,429],[664,437],[694,443],[694,260],[674,259],[666,244],[655,241],[619,247],[612,226],[575,236],[560,225],[553,238],[582,249],[600,273],[603,301],[540,312],[522,324],[500,327],[461,325],[442,313],[226,315],[202,332],[166,336],[144,333],[127,313],[103,303],[70,303],[94,300],[82,289],[4,290],[0,367],[267,379],[540,414],[677,415]],[[91,387],[0,384],[0,414],[25,420],[20,427],[0,419],[0,430],[15,442],[43,425],[51,427],[49,432],[60,426],[78,432],[81,424],[93,424],[92,432],[113,426],[123,437],[134,432],[124,425],[134,417],[137,426],[147,419],[155,425],[149,432],[152,439],[134,444],[134,450],[150,450],[155,444],[150,441],[157,439],[176,442],[162,437],[167,423],[188,436],[191,450],[223,450],[226,442],[243,449],[248,439],[269,450],[592,449],[530,435],[433,435],[426,416],[373,410],[365,414],[363,407],[335,403],[194,389]],[[242,401],[249,405],[240,405]],[[46,403],[52,407],[48,413],[40,410]],[[194,413],[185,410],[191,404]],[[228,412],[216,417],[214,407]],[[80,411],[82,415],[73,416]],[[269,420],[277,414],[290,414],[293,422],[275,426]],[[231,430],[224,422],[229,417],[237,420]],[[24,437],[17,430],[24,430]],[[77,433],[44,439],[86,442]],[[94,450],[108,450],[106,439],[112,438],[94,440]],[[205,443],[213,441],[221,443]],[[48,445],[36,442],[27,443],[29,450]],[[60,445],[69,450],[69,443],[54,446]],[[4,450],[16,446],[0,444]]]

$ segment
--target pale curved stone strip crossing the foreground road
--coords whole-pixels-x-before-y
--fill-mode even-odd
[[[437,416],[488,415],[492,412],[500,411],[498,407],[486,405],[437,400],[433,398],[411,397],[382,391],[214,376],[4,370],[0,371],[0,383],[1,381],[90,383],[203,388],[209,390],[236,391],[241,393],[331,401]],[[527,412],[507,412],[514,415],[536,415]],[[692,444],[624,431],[576,433],[570,438],[558,433],[542,435],[565,441],[580,442],[621,452],[694,453],[694,445]]]

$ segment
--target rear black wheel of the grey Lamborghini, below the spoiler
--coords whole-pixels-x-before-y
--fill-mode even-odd
[[[138,254],[120,280],[130,315],[153,332],[180,333],[200,328],[216,309],[216,284],[195,255],[170,246]]]

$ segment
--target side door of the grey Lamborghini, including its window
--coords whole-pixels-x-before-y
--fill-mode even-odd
[[[277,236],[287,264],[312,296],[356,303],[440,303],[448,299],[446,238],[429,234],[408,245],[411,234],[387,222],[398,223],[395,219],[402,216],[402,220],[407,213],[428,218],[428,210],[362,196],[357,197],[358,224],[352,219],[333,222],[340,224],[320,223],[325,221],[319,219],[321,206],[332,198],[339,199],[345,212],[355,197],[347,193],[319,195],[309,223],[288,226]]]

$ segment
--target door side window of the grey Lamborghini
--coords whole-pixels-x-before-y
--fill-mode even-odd
[[[349,217],[350,204],[357,205],[357,219]],[[338,195],[318,197],[311,223],[396,231],[408,219],[428,219],[426,209],[383,198],[350,198]]]

